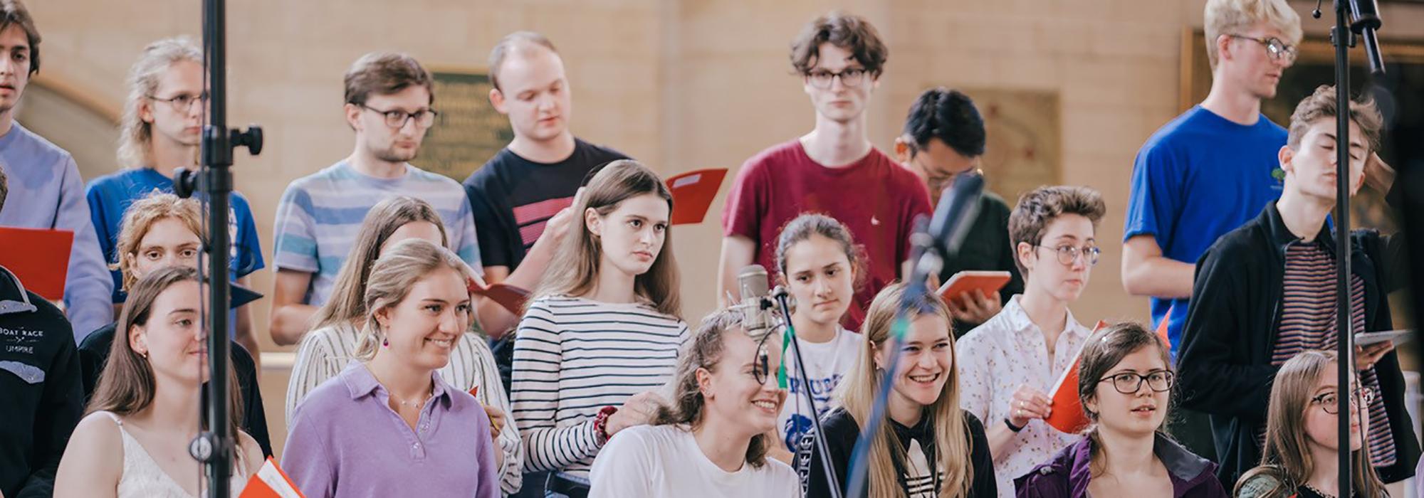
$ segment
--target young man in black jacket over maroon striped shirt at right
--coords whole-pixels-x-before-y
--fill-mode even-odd
[[[1182,406],[1210,415],[1218,477],[1235,484],[1260,461],[1260,437],[1276,371],[1304,350],[1334,350],[1334,236],[1326,221],[1336,206],[1336,115],[1350,115],[1350,194],[1366,182],[1388,192],[1393,174],[1370,161],[1381,118],[1373,102],[1337,110],[1333,87],[1320,87],[1296,107],[1286,145],[1280,201],[1223,235],[1202,256],[1182,333]],[[1397,238],[1358,229],[1351,238],[1350,322],[1354,332],[1391,330],[1390,292],[1404,285]],[[1370,403],[1366,444],[1386,482],[1414,475],[1418,443],[1404,410],[1404,376],[1391,341],[1356,347]]]

